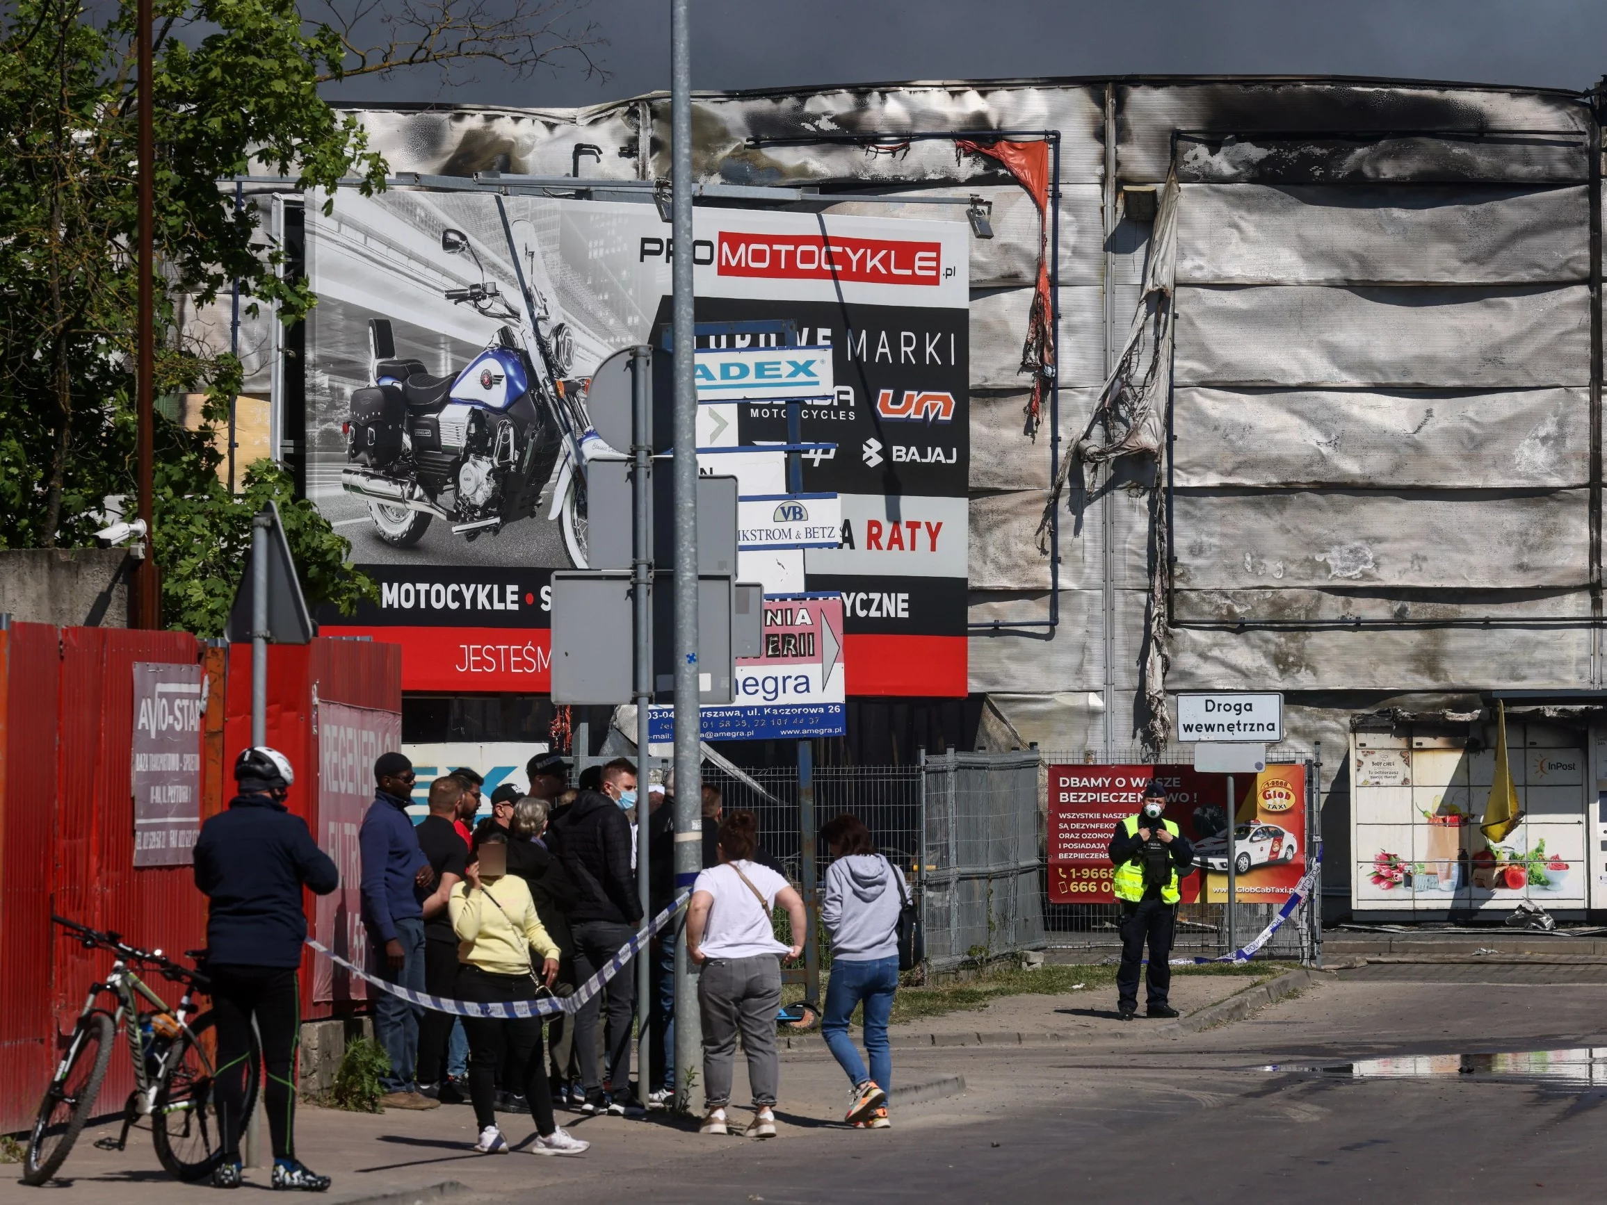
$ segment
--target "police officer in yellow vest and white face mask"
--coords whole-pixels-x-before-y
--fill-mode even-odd
[[[1163,818],[1167,789],[1157,781],[1144,787],[1144,805],[1127,816],[1110,837],[1115,864],[1115,898],[1122,903],[1122,967],[1115,975],[1117,1012],[1122,1020],[1138,1014],[1138,969],[1149,943],[1149,1001],[1146,1015],[1176,1017],[1167,1003],[1172,988],[1172,929],[1178,914],[1178,871],[1194,861],[1194,848]]]

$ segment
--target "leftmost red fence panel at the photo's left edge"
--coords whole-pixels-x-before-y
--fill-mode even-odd
[[[50,887],[56,799],[56,630],[0,630],[0,1133],[34,1123],[55,1064]]]

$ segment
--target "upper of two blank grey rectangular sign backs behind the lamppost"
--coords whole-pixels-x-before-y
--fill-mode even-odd
[[[587,562],[591,569],[630,569],[633,469],[625,460],[593,460],[587,464]],[[659,456],[648,469],[648,479],[652,564],[670,569],[675,566],[675,474],[670,472],[670,458]],[[697,572],[736,575],[736,477],[697,479]]]

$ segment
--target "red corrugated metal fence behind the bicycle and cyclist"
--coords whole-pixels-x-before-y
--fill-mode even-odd
[[[53,932],[51,911],[175,958],[206,945],[206,898],[191,868],[133,868],[138,660],[204,665],[202,816],[211,816],[227,803],[235,754],[249,742],[249,647],[230,683],[228,651],[202,647],[185,633],[0,628],[0,1133],[32,1123],[55,1062],[55,1035],[71,1028],[88,985],[109,966],[103,951]],[[268,741],[296,765],[291,805],[307,816],[309,800],[318,797],[313,699],[400,710],[400,649],[317,639],[272,649],[268,668]],[[169,1003],[180,995],[159,978],[153,986]],[[103,1107],[117,1109],[132,1089],[119,1054]]]

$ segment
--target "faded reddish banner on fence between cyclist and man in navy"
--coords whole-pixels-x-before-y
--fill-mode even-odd
[[[363,935],[363,858],[357,834],[363,813],[374,802],[374,760],[402,744],[402,717],[368,707],[320,702],[318,737],[318,819],[313,840],[334,860],[341,885],[318,897],[313,938],[349,962],[368,966]],[[315,1001],[366,999],[368,986],[326,958],[313,959],[312,998]]]

